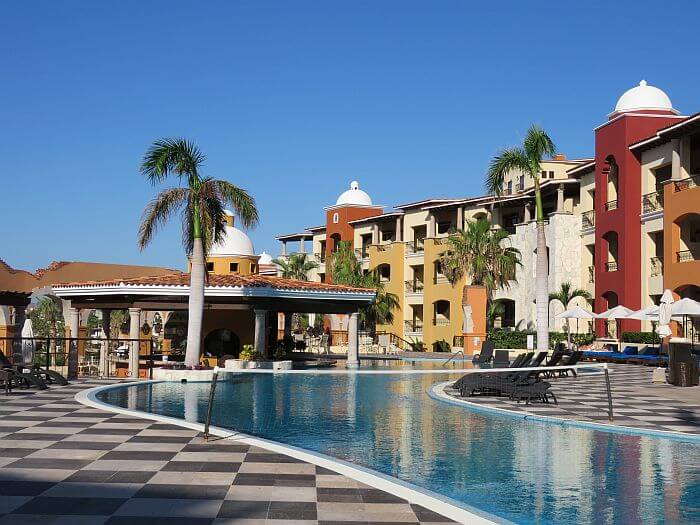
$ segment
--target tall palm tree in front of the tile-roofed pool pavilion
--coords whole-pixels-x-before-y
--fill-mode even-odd
[[[148,204],[141,220],[138,243],[143,250],[157,229],[182,210],[182,243],[191,263],[185,352],[185,365],[190,367],[199,364],[205,260],[209,248],[223,238],[224,206],[233,208],[245,227],[258,221],[255,200],[247,191],[228,181],[201,175],[204,160],[199,148],[186,139],[161,139],[151,145],[141,164],[141,174],[154,185],[171,176],[184,182],[184,186],[161,191]]]

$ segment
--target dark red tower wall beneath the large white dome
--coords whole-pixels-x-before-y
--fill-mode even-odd
[[[595,311],[608,308],[603,294],[617,294],[618,303],[633,310],[641,305],[641,213],[642,177],[639,159],[629,145],[642,140],[658,129],[678,122],[668,116],[623,115],[596,130],[595,135]],[[617,209],[605,210],[608,201],[607,175],[603,173],[606,159],[613,155],[619,167]],[[607,272],[607,243],[609,231],[618,235],[618,271]],[[645,305],[646,306],[646,305]],[[621,330],[640,329],[639,321],[622,321]],[[596,321],[596,333],[604,334],[604,321]]]

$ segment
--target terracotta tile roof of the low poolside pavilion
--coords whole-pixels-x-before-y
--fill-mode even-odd
[[[133,279],[111,279],[107,281],[85,281],[73,282],[65,284],[55,284],[59,288],[99,288],[102,286],[189,286],[190,274],[176,272],[172,274],[136,277]],[[285,279],[283,277],[274,277],[271,275],[218,275],[209,274],[206,283],[207,288],[275,288],[278,290],[308,290],[318,292],[364,292],[374,293],[374,290],[368,288],[355,288],[352,286],[344,286],[338,284],[317,283],[311,281],[296,281],[293,279]]]

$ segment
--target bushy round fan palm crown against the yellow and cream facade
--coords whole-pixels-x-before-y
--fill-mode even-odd
[[[521,265],[520,251],[504,242],[508,237],[486,219],[468,221],[464,230],[447,238],[447,250],[440,256],[443,274],[453,286],[468,275],[471,284],[486,287],[490,302],[495,290],[510,287]]]

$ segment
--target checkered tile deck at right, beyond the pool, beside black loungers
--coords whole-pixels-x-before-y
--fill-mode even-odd
[[[700,434],[700,387],[680,388],[653,385],[652,367],[611,364],[610,384],[613,398],[612,424],[648,430]],[[608,421],[608,398],[602,375],[548,379],[557,397],[554,403],[529,405],[507,397],[479,396],[461,398],[453,389],[445,393],[478,405],[517,412],[561,417],[578,421]]]

